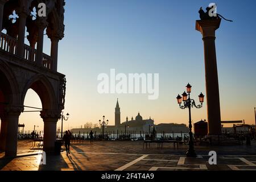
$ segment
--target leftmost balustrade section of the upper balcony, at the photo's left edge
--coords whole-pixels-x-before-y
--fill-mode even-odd
[[[0,33],[0,36],[0,49],[15,54],[17,52],[18,40],[3,33]]]

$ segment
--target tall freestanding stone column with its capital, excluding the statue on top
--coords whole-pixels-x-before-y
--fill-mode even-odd
[[[221,19],[197,20],[196,30],[203,35],[205,85],[207,92],[208,135],[221,134],[220,96],[215,49],[215,31]]]

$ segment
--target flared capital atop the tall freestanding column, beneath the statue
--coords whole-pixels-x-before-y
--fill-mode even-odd
[[[203,38],[215,37],[215,31],[220,27],[220,19],[196,20],[196,30],[200,31]]]

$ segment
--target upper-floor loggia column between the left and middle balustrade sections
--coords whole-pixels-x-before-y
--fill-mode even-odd
[[[25,40],[25,28],[26,19],[28,16],[27,12],[18,11],[19,16],[19,34],[18,34],[18,55],[24,57],[24,40]]]

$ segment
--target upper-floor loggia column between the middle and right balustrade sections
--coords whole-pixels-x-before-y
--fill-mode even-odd
[[[38,44],[36,47],[36,64],[43,64],[43,44],[44,44],[44,29],[47,26],[46,18],[38,18],[36,20],[38,26]]]

